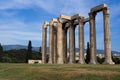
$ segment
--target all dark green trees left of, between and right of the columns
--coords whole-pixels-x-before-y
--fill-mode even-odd
[[[90,62],[90,44],[87,42],[87,50],[86,50],[86,59],[85,62],[89,64]],[[47,54],[47,62],[48,62],[49,55]],[[42,59],[41,47],[39,51],[32,50],[32,42],[29,41],[28,49],[19,49],[19,50],[8,50],[3,51],[3,47],[0,44],[0,62],[7,62],[7,63],[28,63],[29,59]],[[120,59],[116,57],[112,57],[115,64],[120,64]],[[97,61],[102,64],[105,58],[100,58],[97,56]]]

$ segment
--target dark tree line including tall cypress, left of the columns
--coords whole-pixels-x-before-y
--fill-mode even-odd
[[[0,44],[0,62],[3,63],[28,63],[29,59],[42,59],[41,47],[39,51],[32,50],[32,42],[29,41],[28,49],[4,51]]]

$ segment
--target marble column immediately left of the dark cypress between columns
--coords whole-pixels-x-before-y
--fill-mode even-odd
[[[85,64],[84,60],[84,17],[79,19],[79,63]]]

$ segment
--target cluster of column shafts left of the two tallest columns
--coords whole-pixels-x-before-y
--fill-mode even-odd
[[[80,61],[83,63],[84,56],[84,28],[82,22],[80,22]],[[63,30],[62,24],[59,23],[57,30],[54,30],[53,26],[50,26],[50,38],[49,38],[49,62],[50,64],[58,63],[64,64],[67,63],[67,30]],[[75,26],[74,22],[71,21],[70,25],[70,60],[69,63],[75,63]],[[57,37],[58,36],[58,37]],[[42,60],[43,63],[46,63],[46,28],[43,28],[43,48],[42,48]]]

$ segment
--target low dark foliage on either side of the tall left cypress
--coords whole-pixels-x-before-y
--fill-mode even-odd
[[[3,52],[2,62],[7,63],[26,63],[27,49],[8,50]],[[32,59],[41,60],[41,53],[32,51]]]

